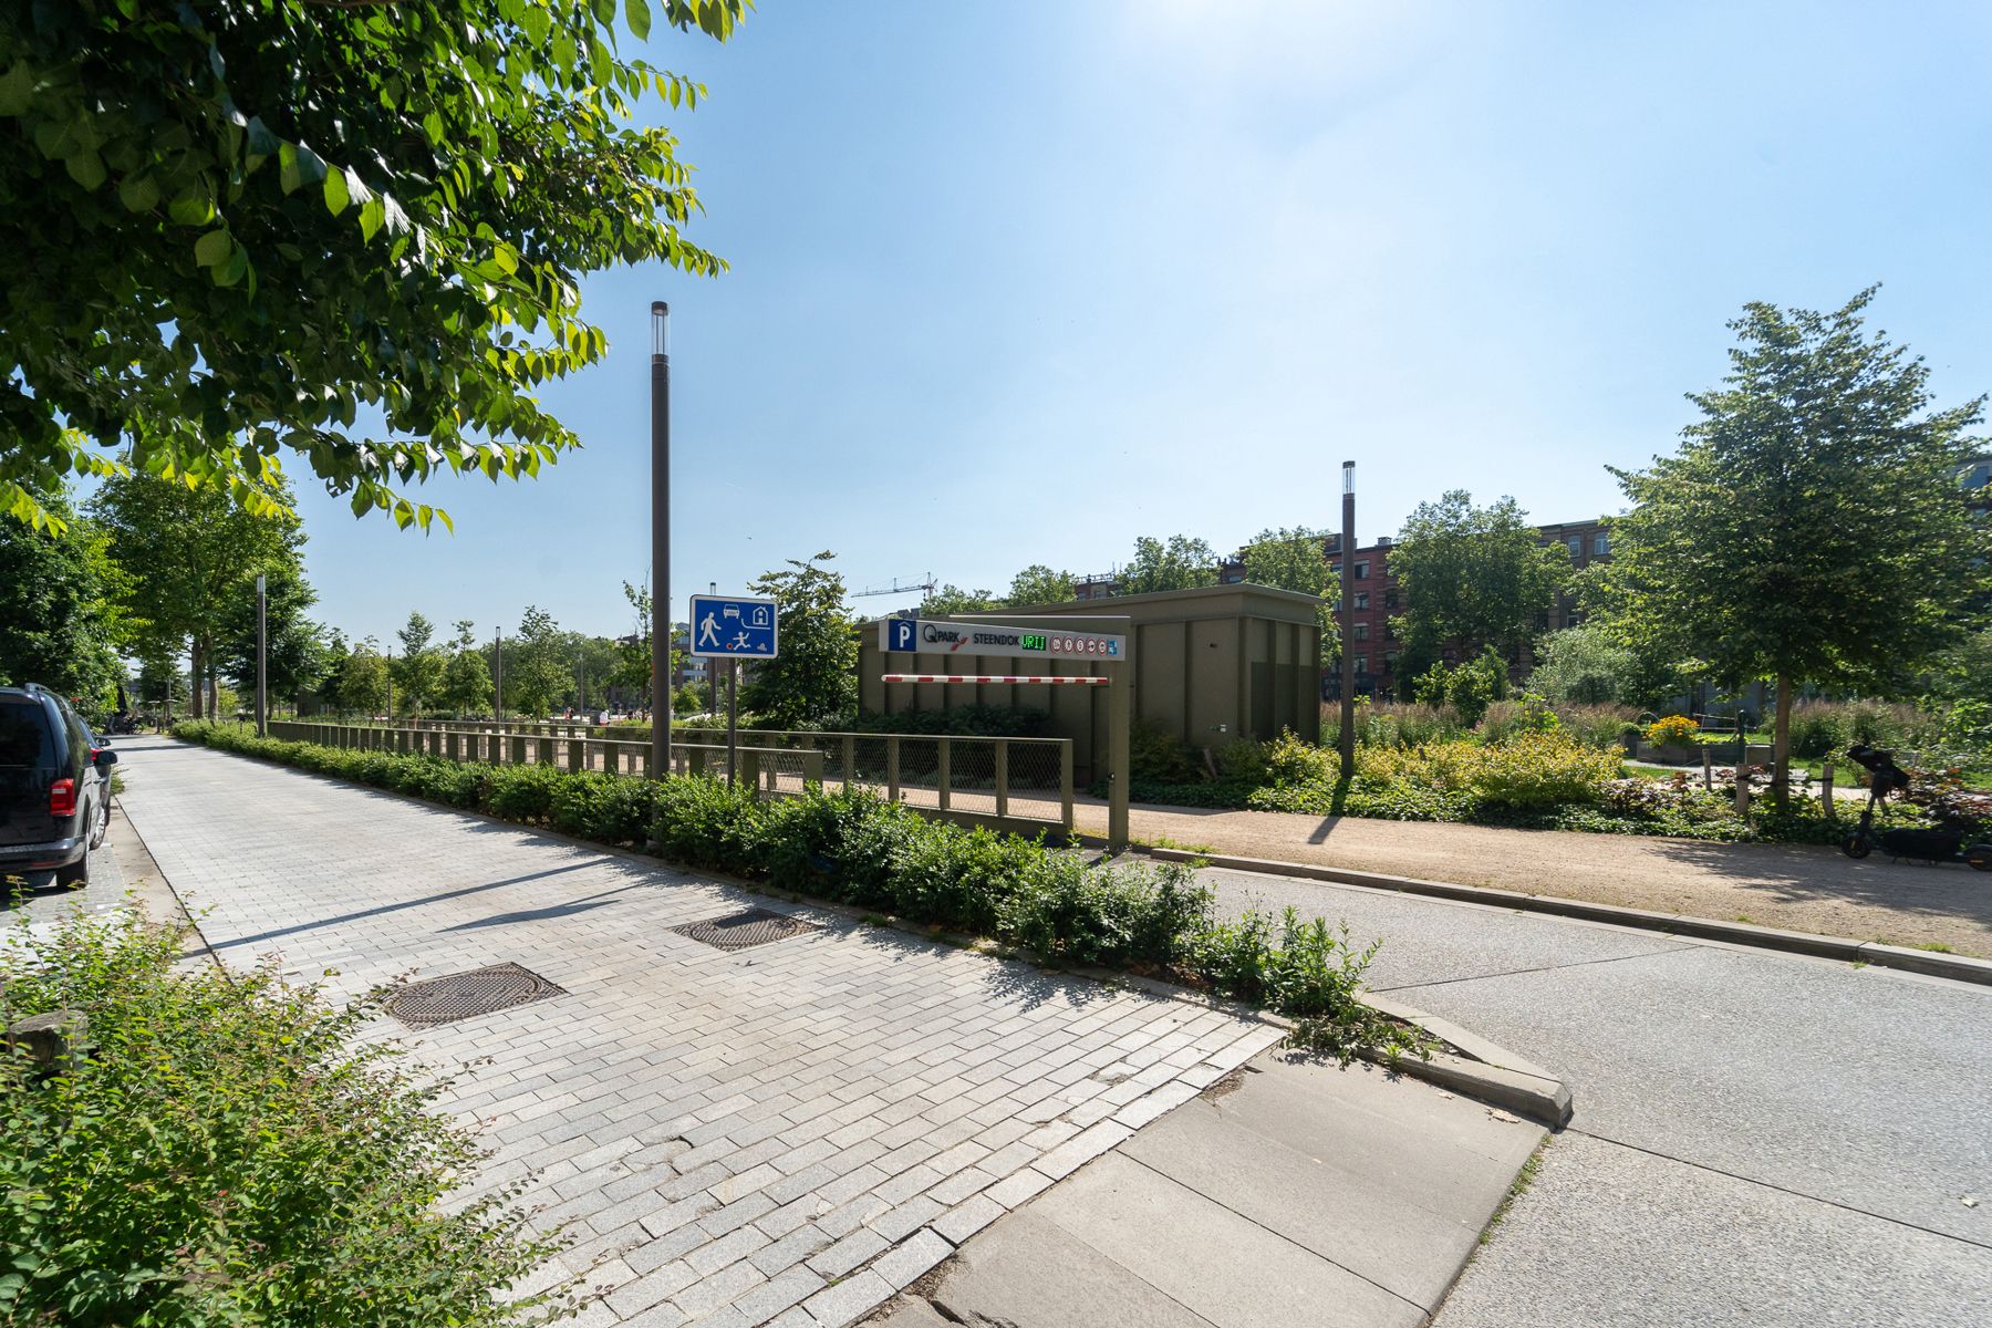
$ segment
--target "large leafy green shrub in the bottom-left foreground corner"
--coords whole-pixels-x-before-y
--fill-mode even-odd
[[[8,1324],[472,1328],[558,1242],[518,1189],[446,1201],[482,1159],[388,1043],[273,966],[181,964],[187,928],[120,910],[16,928],[0,1019],[82,1009],[84,1055],[0,1057]]]

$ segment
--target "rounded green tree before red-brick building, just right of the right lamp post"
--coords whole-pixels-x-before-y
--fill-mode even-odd
[[[1448,490],[1412,510],[1390,571],[1404,595],[1400,669],[1418,675],[1446,647],[1460,659],[1488,647],[1518,653],[1562,589],[1570,550],[1544,546],[1514,498],[1476,508],[1466,490]]]

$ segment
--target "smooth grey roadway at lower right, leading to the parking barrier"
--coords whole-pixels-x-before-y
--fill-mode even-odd
[[[1566,1075],[1576,1117],[1434,1320],[1978,1324],[1992,988],[1205,872],[1380,938],[1370,986]]]

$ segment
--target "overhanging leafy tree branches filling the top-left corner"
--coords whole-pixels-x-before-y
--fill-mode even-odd
[[[747,2],[620,8],[637,38],[655,10],[725,40]],[[0,510],[46,520],[36,494],[129,448],[261,512],[293,454],[355,514],[426,526],[398,486],[578,446],[534,392],[608,348],[582,275],[723,271],[679,233],[675,137],[637,123],[703,88],[618,58],[616,12],[0,6]]]

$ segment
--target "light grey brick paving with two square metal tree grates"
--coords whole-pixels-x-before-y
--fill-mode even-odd
[[[231,964],[359,992],[514,962],[566,996],[408,1033],[536,1173],[582,1324],[847,1324],[1279,1039],[623,856],[131,739],[124,808]],[[755,902],[823,930],[721,952]],[[488,1057],[488,1059],[486,1059]]]

